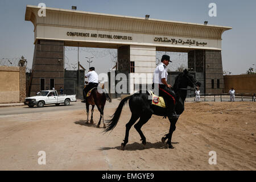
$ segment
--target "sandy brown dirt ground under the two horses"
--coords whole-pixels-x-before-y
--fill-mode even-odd
[[[105,119],[114,113],[105,107]],[[85,110],[0,116],[1,170],[255,170],[255,102],[186,102],[172,137],[174,149],[161,141],[170,123],[153,115],[142,127],[146,146],[134,127],[120,150],[128,106],[112,133],[86,124]],[[160,135],[159,135],[160,134]],[[38,152],[46,152],[46,165]],[[216,151],[217,164],[208,163]]]

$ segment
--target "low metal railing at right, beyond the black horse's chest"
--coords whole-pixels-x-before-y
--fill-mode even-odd
[[[196,101],[195,93],[188,94],[185,102]],[[210,102],[227,102],[230,101],[230,95],[226,93],[222,94],[200,94],[200,101],[210,101]],[[234,101],[251,101],[255,102],[255,93],[236,93]]]

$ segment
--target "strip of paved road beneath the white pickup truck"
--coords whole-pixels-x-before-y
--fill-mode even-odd
[[[114,99],[111,103],[108,101],[106,102],[106,107],[116,107],[119,104],[120,100]],[[90,106],[91,107],[91,106]],[[10,107],[0,107],[0,115],[10,115],[10,114],[26,114],[26,113],[47,113],[53,111],[60,111],[60,110],[80,110],[85,109],[85,104],[77,101],[71,102],[71,105],[65,106],[63,104],[56,106],[56,105],[45,105],[44,107],[37,107],[34,106],[32,108],[22,105],[22,106],[10,106]],[[94,109],[97,109],[95,107]]]

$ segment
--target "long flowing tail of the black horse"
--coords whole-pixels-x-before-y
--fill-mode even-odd
[[[120,115],[121,115],[121,112],[122,112],[122,109],[123,109],[123,106],[126,104],[126,102],[130,98],[131,98],[131,96],[123,98],[123,100],[120,102],[117,109],[115,110],[115,113],[112,115],[112,117],[111,117],[112,119],[106,121],[106,122],[109,122],[109,123],[108,123],[108,126],[105,129],[105,132],[113,130],[114,127],[117,125],[117,122],[120,118]]]

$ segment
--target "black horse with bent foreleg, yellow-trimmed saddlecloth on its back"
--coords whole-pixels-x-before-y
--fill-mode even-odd
[[[173,86],[174,92],[176,93],[176,97],[177,97],[176,107],[175,107],[176,114],[180,115],[184,111],[184,101],[187,96],[188,86],[191,86],[192,88],[195,89],[196,86],[201,86],[201,84],[187,71],[187,69],[185,69],[182,73],[180,73],[175,78],[175,84]],[[134,123],[137,121],[138,118],[140,119],[138,123],[134,125],[134,127],[138,131],[139,135],[141,136],[142,144],[145,145],[146,137],[143,135],[141,131],[141,127],[152,117],[152,114],[160,115],[160,116],[164,116],[166,114],[166,108],[152,105],[151,104],[152,100],[148,99],[148,95],[149,95],[148,93],[137,92],[132,96],[123,98],[123,100],[120,102],[117,109],[115,110],[115,113],[112,115],[112,119],[108,121],[109,123],[105,129],[105,132],[114,129],[121,115],[123,105],[125,105],[126,102],[129,100],[131,118],[130,118],[130,121],[126,124],[125,139],[121,144],[122,150],[124,150],[128,142],[129,130],[131,126],[134,125]],[[171,144],[171,139],[172,139],[172,133],[176,129],[175,125],[178,118],[168,117],[168,119],[171,123],[170,130],[169,130],[169,133],[162,138],[162,142],[164,143],[166,139],[168,139],[167,140],[168,147],[174,148]]]

